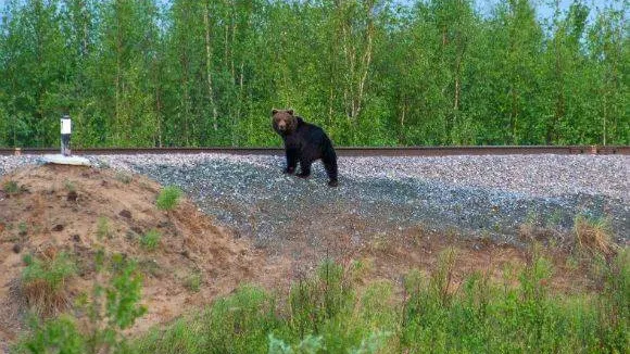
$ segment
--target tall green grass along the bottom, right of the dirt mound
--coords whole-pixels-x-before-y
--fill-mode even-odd
[[[554,269],[538,252],[522,269],[506,268],[504,283],[492,281],[489,273],[455,282],[455,262],[456,254],[448,250],[432,273],[407,274],[402,296],[389,281],[358,287],[355,264],[325,262],[295,281],[286,300],[241,286],[204,311],[136,338],[121,352],[627,352],[629,252],[601,266],[596,294],[552,293]]]

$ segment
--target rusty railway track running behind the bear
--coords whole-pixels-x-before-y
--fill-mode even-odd
[[[446,155],[527,155],[527,154],[618,154],[630,155],[630,146],[568,147],[408,147],[408,148],[336,148],[340,156],[446,156]],[[0,148],[0,155],[43,155],[59,153],[53,148]],[[198,154],[228,153],[282,155],[281,148],[98,148],[76,149],[75,155],[106,154]]]

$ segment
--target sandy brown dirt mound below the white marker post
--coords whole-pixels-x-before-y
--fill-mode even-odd
[[[71,296],[91,286],[97,244],[137,260],[149,308],[137,330],[229,293],[263,270],[245,240],[232,239],[188,200],[159,210],[161,186],[138,175],[45,165],[3,176],[0,186],[0,341],[22,330],[17,285],[26,254],[67,253],[78,266],[66,285]],[[149,232],[161,235],[153,250],[142,244]]]

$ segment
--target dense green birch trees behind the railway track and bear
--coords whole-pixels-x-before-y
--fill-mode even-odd
[[[0,147],[628,144],[627,0],[8,0]]]

